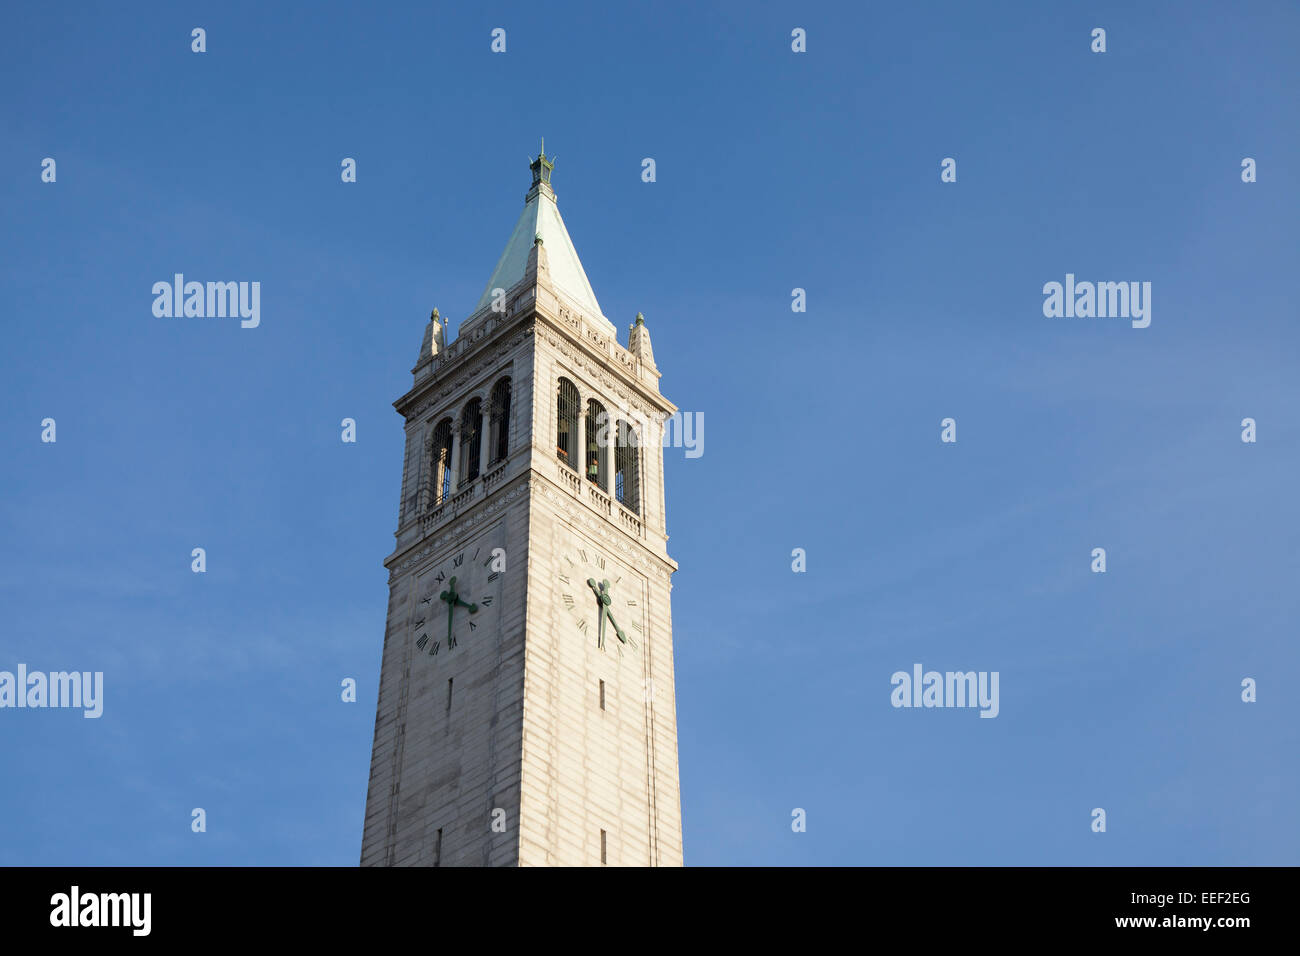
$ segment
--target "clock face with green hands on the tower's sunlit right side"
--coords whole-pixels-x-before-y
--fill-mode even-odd
[[[620,657],[641,645],[641,579],[607,553],[588,544],[563,548],[555,587],[562,614],[584,640],[599,650],[614,648]]]

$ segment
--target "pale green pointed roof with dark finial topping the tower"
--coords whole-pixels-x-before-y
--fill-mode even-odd
[[[533,247],[533,241],[541,237],[550,263],[551,282],[592,319],[603,317],[595,293],[592,291],[592,284],[586,281],[586,272],[582,271],[582,261],[577,258],[568,229],[564,228],[560,209],[555,204],[555,191],[551,189],[554,168],[555,164],[547,159],[543,146],[541,155],[529,165],[533,170],[533,187],[524,198],[524,211],[515,224],[515,232],[510,234],[506,251],[500,254],[497,268],[493,269],[491,278],[488,280],[488,287],[474,306],[474,312],[491,302],[493,289],[510,289],[524,277],[528,252]]]

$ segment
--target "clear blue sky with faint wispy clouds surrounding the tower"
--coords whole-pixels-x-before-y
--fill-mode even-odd
[[[3,23],[0,669],[107,693],[0,711],[0,864],[356,862],[391,402],[543,135],[706,421],[667,462],[688,864],[1300,862],[1294,4]],[[260,328],[156,319],[173,272],[259,280]],[[1152,282],[1150,326],[1044,317],[1066,273]],[[916,662],[998,671],[998,717],[892,708]]]

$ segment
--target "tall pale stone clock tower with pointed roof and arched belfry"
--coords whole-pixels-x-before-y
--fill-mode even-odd
[[[681,865],[664,424],[545,148],[473,312],[434,310],[406,421],[363,866]]]

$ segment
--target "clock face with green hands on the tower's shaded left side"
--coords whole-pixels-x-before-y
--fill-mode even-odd
[[[493,550],[471,544],[420,574],[411,615],[413,653],[447,659],[494,632],[502,572]]]

